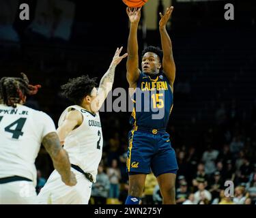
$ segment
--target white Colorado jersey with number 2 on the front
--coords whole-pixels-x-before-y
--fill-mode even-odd
[[[100,115],[81,108],[81,106],[70,106],[63,111],[59,118],[59,127],[70,110],[79,110],[83,115],[83,123],[76,129],[70,131],[65,139],[64,149],[68,152],[70,163],[79,166],[84,172],[89,172],[96,182],[98,165],[102,158],[102,128]]]

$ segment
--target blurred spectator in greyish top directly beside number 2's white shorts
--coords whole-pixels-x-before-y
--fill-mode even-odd
[[[104,173],[102,165],[98,166],[96,183],[92,184],[91,197],[94,198],[94,204],[106,204],[106,198],[109,196],[109,176]]]

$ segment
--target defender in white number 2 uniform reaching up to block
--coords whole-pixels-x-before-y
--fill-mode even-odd
[[[115,67],[127,57],[127,54],[119,57],[121,52],[122,48],[117,48],[98,90],[96,78],[89,76],[71,79],[61,87],[63,95],[75,105],[63,111],[57,132],[70,157],[77,184],[68,187],[54,171],[38,195],[40,204],[88,204],[91,185],[96,182],[102,158],[103,139],[98,110],[113,87]]]

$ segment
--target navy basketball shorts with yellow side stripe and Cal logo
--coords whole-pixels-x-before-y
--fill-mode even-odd
[[[128,142],[128,174],[150,174],[151,170],[156,177],[165,173],[177,174],[175,151],[166,131],[153,134],[132,129],[128,134]]]

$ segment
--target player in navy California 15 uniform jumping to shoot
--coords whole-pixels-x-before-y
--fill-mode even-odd
[[[173,7],[168,7],[164,15],[160,13],[162,50],[154,46],[145,48],[142,52],[142,70],[139,69],[137,42],[141,7],[127,7],[126,12],[130,20],[126,77],[130,88],[136,90],[133,94],[134,110],[130,120],[133,128],[128,134],[129,190],[126,204],[139,204],[145,178],[150,174],[150,170],[157,178],[162,193],[162,203],[175,204],[177,161],[169,134],[166,132],[173,107],[175,80],[172,44],[166,29]],[[138,90],[141,91],[141,99],[136,99]],[[143,111],[145,102],[150,104],[150,112]],[[136,110],[137,104],[141,105],[141,111]],[[162,111],[164,116],[160,119],[152,119],[156,110]]]

